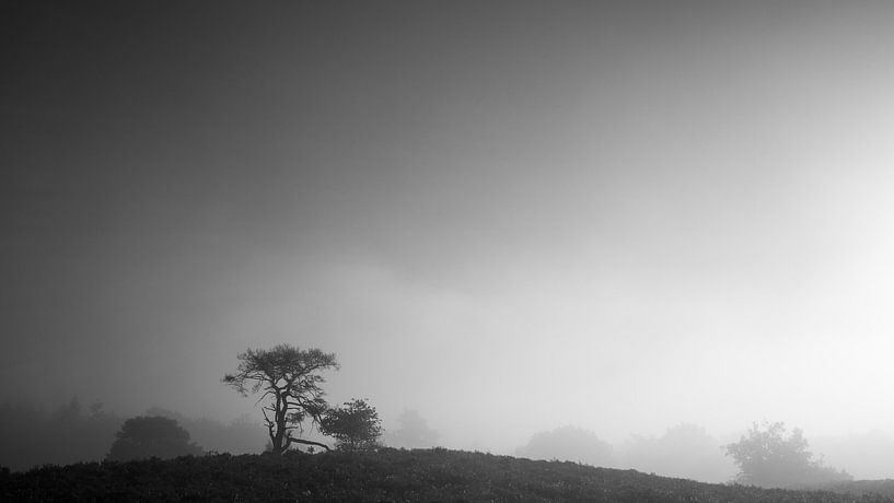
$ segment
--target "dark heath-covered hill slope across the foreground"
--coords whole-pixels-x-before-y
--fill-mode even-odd
[[[894,502],[894,480],[826,491],[722,486],[442,448],[208,455],[0,473],[0,501]]]

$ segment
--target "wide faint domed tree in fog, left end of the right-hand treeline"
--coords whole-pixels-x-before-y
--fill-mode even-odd
[[[532,459],[564,459],[600,466],[611,463],[612,446],[589,430],[562,426],[535,434],[516,454]]]

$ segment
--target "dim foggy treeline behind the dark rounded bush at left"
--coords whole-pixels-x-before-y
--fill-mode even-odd
[[[264,451],[265,430],[247,418],[222,423],[156,407],[146,416],[176,420],[204,452]],[[30,403],[0,403],[0,466],[22,471],[43,465],[103,460],[127,419],[105,410],[98,401],[84,406],[78,398],[49,410]]]

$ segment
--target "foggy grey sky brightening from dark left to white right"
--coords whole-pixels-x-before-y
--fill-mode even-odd
[[[0,3],[0,399],[894,434],[894,5]]]

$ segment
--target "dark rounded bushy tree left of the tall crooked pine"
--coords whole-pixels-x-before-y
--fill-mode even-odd
[[[201,454],[201,447],[189,442],[189,432],[176,421],[161,416],[139,416],[128,419],[115,434],[106,459],[129,461],[158,457],[169,459],[177,456]]]

